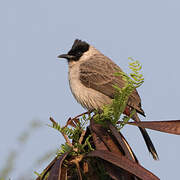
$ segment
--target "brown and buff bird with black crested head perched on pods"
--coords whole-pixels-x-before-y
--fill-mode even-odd
[[[61,54],[58,58],[67,60],[71,92],[77,102],[88,111],[100,110],[104,105],[112,103],[116,92],[113,85],[120,88],[125,86],[123,78],[114,75],[117,70],[122,69],[86,41],[76,39],[68,53]],[[145,113],[136,89],[129,96],[124,114],[129,115],[132,109],[136,110],[132,119],[139,122],[138,114],[145,116]],[[158,154],[146,129],[139,129],[153,159],[158,160]]]

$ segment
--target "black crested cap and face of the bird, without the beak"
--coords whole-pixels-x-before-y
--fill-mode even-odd
[[[83,55],[84,52],[88,51],[89,44],[85,41],[76,39],[71,50],[68,52],[69,55],[74,55],[77,60]]]

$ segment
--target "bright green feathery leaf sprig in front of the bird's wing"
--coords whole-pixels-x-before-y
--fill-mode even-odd
[[[105,125],[104,122],[108,120],[111,121],[112,124],[117,126],[117,121],[120,119],[126,108],[129,96],[144,82],[143,75],[140,73],[142,66],[139,61],[135,61],[132,58],[129,58],[129,60],[132,61],[129,63],[129,68],[132,70],[132,73],[130,73],[129,75],[122,71],[115,73],[115,76],[121,76],[123,78],[123,80],[125,81],[125,86],[122,89],[117,85],[113,86],[116,89],[116,92],[112,104],[104,106],[103,113],[96,113],[96,116],[94,117],[95,121],[99,124]],[[120,124],[118,128],[122,128],[135,112],[136,111],[133,110],[130,116],[123,116],[123,123]]]

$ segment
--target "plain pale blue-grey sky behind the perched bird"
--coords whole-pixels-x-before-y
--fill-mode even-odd
[[[138,91],[146,120],[179,119],[179,17],[178,0],[1,1],[0,169],[8,153],[18,150],[18,136],[38,119],[43,127],[21,148],[10,178],[41,172],[48,162],[38,168],[33,163],[64,142],[47,126],[49,117],[63,125],[84,111],[70,92],[67,62],[57,58],[76,38],[95,46],[125,72],[128,57],[139,60],[145,83]],[[152,159],[136,127],[123,128],[145,168],[162,180],[178,179],[180,137],[148,132],[159,161]]]

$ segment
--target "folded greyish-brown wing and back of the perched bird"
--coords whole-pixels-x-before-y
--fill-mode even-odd
[[[121,76],[114,75],[118,71],[122,70],[109,58],[96,54],[95,57],[80,65],[80,80],[86,87],[93,88],[114,98],[115,89],[113,85],[117,85],[120,88],[123,88],[125,85]],[[129,97],[128,105],[144,115],[144,111],[141,109],[141,99],[136,90]]]

